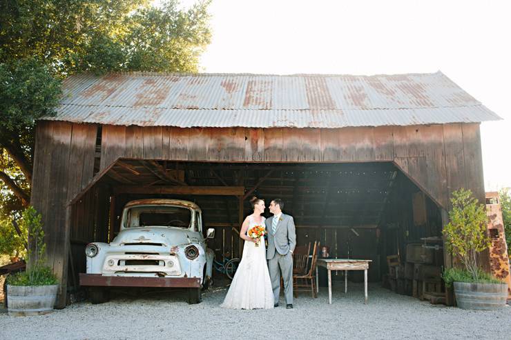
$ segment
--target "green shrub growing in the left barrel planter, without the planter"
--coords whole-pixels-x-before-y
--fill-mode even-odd
[[[46,265],[46,244],[41,214],[32,206],[23,211],[21,228],[28,230],[28,269],[8,277],[12,286],[47,286],[58,283],[57,277]]]

